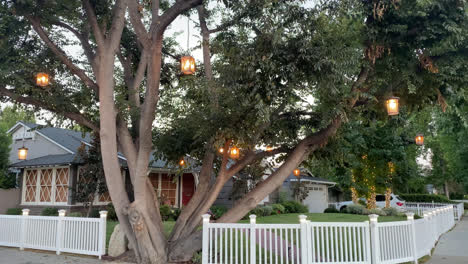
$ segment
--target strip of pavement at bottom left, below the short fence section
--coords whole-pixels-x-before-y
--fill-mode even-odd
[[[37,250],[21,251],[17,248],[0,247],[0,264],[117,264],[124,262],[109,262],[99,260],[97,257],[77,256],[62,253],[57,256],[55,252]]]

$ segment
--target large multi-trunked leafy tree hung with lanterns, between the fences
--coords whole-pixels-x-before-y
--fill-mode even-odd
[[[346,120],[366,109],[383,116],[378,109],[390,93],[417,107],[435,101],[442,83],[456,82],[436,73],[448,71],[438,61],[465,48],[457,42],[464,8],[456,0],[312,7],[276,0],[2,1],[0,93],[98,132],[107,186],[138,262],[187,261],[201,248],[201,215],[241,170],[272,156],[281,162],[219,221],[242,218]],[[165,37],[182,14],[196,17],[201,31],[203,67],[195,76],[178,76],[173,59],[181,54]],[[67,53],[77,45],[82,56]],[[34,85],[39,71],[53,74],[50,86]],[[201,167],[168,239],[147,177],[153,139],[159,155],[190,155]],[[217,155],[233,144],[242,149],[238,160]],[[258,150],[265,145],[274,149]]]

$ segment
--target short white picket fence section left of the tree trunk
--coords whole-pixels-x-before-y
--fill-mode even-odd
[[[101,256],[106,254],[107,211],[100,218],[0,215],[0,246]]]

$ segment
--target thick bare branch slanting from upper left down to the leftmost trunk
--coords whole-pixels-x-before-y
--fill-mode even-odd
[[[76,66],[62,49],[60,49],[57,45],[55,45],[55,43],[52,42],[39,23],[39,20],[31,16],[26,16],[26,18],[31,22],[34,31],[37,32],[42,41],[44,41],[44,43],[52,50],[52,52],[60,59],[60,61],[62,61],[62,63],[65,64],[67,68],[73,74],[78,76],[88,87],[93,89],[96,93],[99,93],[98,85],[91,78],[89,78],[88,75],[86,75],[83,69]]]

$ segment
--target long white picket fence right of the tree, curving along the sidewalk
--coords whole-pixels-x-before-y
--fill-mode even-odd
[[[377,215],[358,223],[210,223],[203,216],[203,264],[417,263],[440,235],[455,225],[452,205],[427,209],[423,218],[379,223]]]

